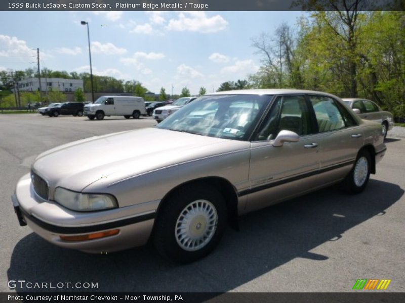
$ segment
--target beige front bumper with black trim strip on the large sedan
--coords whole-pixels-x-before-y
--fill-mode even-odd
[[[108,213],[111,215],[111,211],[74,212],[67,210],[54,201],[39,199],[32,189],[29,174],[18,182],[12,202],[21,226],[28,225],[36,234],[55,245],[94,254],[145,244],[151,234],[155,217],[155,212],[149,211],[111,220],[111,216],[108,216]],[[41,211],[34,212],[35,209],[41,209]],[[46,212],[44,209],[47,209]],[[114,211],[119,211],[119,209]],[[42,218],[44,213],[49,214],[47,219]],[[92,219],[89,220],[89,218]],[[92,220],[94,222],[91,222]],[[83,223],[83,221],[87,221],[87,223]],[[119,230],[117,234],[98,239],[66,241],[60,237],[89,235],[115,229]]]

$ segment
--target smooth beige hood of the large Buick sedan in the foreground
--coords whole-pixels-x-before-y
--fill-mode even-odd
[[[50,149],[36,158],[32,169],[49,183],[50,194],[58,186],[83,191],[94,182],[111,184],[248,146],[249,142],[244,141],[144,128]]]

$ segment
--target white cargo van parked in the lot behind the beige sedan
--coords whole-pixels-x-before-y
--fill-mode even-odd
[[[126,119],[139,119],[146,115],[145,100],[132,96],[102,96],[95,103],[84,107],[83,115],[90,120],[104,119],[104,116],[124,116]]]

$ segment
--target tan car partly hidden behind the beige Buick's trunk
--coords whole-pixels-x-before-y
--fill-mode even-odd
[[[390,112],[383,111],[372,100],[359,98],[343,98],[348,105],[361,119],[372,120],[383,126],[384,138],[387,132],[394,127],[394,116]]]

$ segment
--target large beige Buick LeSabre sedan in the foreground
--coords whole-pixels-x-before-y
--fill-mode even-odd
[[[12,200],[20,224],[56,245],[104,252],[151,238],[186,263],[206,256],[238,215],[338,182],[361,192],[385,150],[381,124],[334,95],[219,92],[157,128],[46,151]]]

